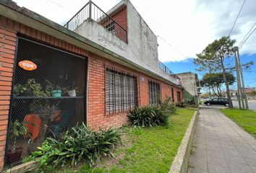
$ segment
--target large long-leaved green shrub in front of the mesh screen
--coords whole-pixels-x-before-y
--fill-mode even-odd
[[[98,132],[89,130],[84,123],[67,130],[61,141],[47,138],[39,151],[33,152],[26,160],[40,157],[39,163],[42,167],[49,165],[61,165],[70,163],[77,164],[82,159],[93,166],[101,156],[114,156],[111,148],[120,141],[121,133],[114,129]]]

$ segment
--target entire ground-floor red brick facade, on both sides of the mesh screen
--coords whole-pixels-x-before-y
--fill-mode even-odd
[[[126,9],[125,9],[126,10]],[[31,27],[14,22],[11,19],[0,16],[0,169],[4,166],[4,152],[7,139],[7,125],[9,116],[9,104],[12,91],[12,74],[14,67],[14,54],[17,35],[30,38],[51,45],[55,48],[67,50],[81,56],[88,57],[88,126],[90,128],[101,127],[120,127],[127,123],[127,112],[112,115],[105,115],[105,93],[104,93],[104,68],[105,64],[111,64],[118,68],[136,74],[139,84],[139,104],[148,105],[148,80],[158,81],[161,84],[162,97],[171,96],[171,86],[158,79],[153,79],[145,74],[126,68],[116,63],[111,63],[105,58],[101,58],[87,50],[78,48],[67,42],[57,39],[52,35],[35,30]],[[176,101],[176,91],[181,89],[174,87],[174,100]],[[181,92],[182,93],[182,92]],[[87,109],[85,107],[85,109]]]

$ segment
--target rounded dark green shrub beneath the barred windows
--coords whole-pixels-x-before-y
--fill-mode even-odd
[[[170,114],[163,111],[159,106],[135,107],[128,112],[127,116],[131,125],[141,127],[153,127],[156,125],[166,125]]]

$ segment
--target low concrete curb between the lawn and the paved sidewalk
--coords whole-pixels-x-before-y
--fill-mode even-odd
[[[186,133],[179,146],[178,152],[171,164],[169,173],[186,173],[189,165],[190,151],[192,150],[192,141],[195,135],[195,127],[197,124],[197,117],[199,110],[197,110],[187,127]]]

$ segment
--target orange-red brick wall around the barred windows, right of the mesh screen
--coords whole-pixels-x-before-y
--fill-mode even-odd
[[[171,86],[169,84],[163,83],[157,79],[153,79],[150,76],[140,74],[137,71],[116,63],[112,63],[111,61],[107,61],[104,58],[92,54],[88,61],[88,126],[90,128],[97,129],[99,126],[101,128],[109,128],[111,126],[119,128],[121,125],[126,124],[128,120],[127,112],[119,112],[111,115],[105,114],[104,71],[106,63],[108,66],[114,66],[115,68],[123,69],[124,71],[127,71],[130,74],[135,74],[135,76],[137,76],[139,85],[139,105],[149,104],[148,80],[158,81],[160,83],[163,99],[166,96],[171,97]],[[181,89],[174,87],[175,102],[177,102],[177,91],[182,93]]]

